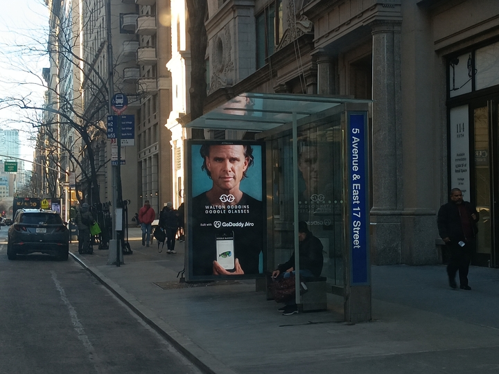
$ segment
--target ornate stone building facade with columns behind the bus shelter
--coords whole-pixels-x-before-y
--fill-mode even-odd
[[[205,112],[244,92],[373,100],[372,263],[441,261],[436,214],[448,201],[448,190],[459,187],[481,214],[478,261],[499,266],[494,242],[499,211],[493,204],[499,191],[499,3],[208,4]],[[252,136],[244,129],[207,135]],[[272,217],[270,213],[270,226],[276,222]]]

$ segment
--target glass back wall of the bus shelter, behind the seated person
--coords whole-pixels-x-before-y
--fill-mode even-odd
[[[340,114],[298,129],[299,220],[308,223],[324,246],[322,276],[343,285],[343,159]],[[274,264],[289,260],[293,240],[292,138],[272,141]],[[270,262],[272,262],[272,260]],[[272,265],[270,265],[272,267]]]

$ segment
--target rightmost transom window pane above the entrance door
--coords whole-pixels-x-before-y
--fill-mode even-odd
[[[475,51],[475,88],[499,84],[499,42]]]

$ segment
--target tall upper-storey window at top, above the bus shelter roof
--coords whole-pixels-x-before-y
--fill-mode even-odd
[[[265,65],[282,36],[282,0],[272,1],[256,16],[256,68]]]

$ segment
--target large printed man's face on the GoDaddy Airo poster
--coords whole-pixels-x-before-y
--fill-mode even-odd
[[[206,159],[213,184],[220,190],[239,188],[248,163],[243,145],[211,145]]]

